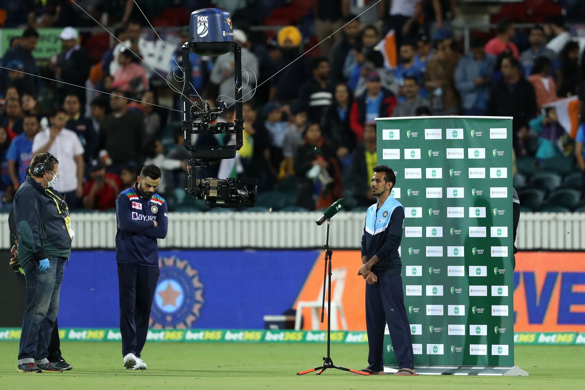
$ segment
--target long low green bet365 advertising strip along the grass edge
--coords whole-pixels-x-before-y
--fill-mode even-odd
[[[119,329],[59,330],[61,341],[122,341]],[[241,329],[150,329],[147,339],[158,342],[191,343],[325,343],[326,331]],[[20,329],[0,328],[0,341],[20,340]],[[367,344],[366,332],[332,331],[331,343]],[[514,344],[585,345],[585,333],[517,333]],[[364,346],[365,347],[365,346]]]

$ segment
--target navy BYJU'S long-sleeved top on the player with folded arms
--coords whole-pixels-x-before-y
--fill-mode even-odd
[[[122,191],[116,200],[116,261],[159,266],[156,239],[167,237],[167,202],[158,194],[145,197],[137,187]]]

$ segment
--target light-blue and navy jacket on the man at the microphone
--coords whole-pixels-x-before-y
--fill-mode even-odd
[[[402,262],[398,255],[402,241],[404,207],[393,196],[388,196],[382,207],[372,204],[366,211],[366,224],[362,236],[362,257],[377,256],[380,262],[371,271],[378,278],[384,275],[400,275]]]

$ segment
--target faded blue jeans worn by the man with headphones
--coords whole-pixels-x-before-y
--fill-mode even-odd
[[[22,320],[18,364],[49,362],[47,348],[59,310],[64,258],[49,256],[50,268],[39,271],[39,262],[31,260],[22,269],[26,279],[26,312]]]

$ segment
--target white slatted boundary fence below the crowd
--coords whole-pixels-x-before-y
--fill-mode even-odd
[[[8,214],[0,220],[0,248],[9,249]],[[169,213],[159,248],[322,248],[326,225],[319,213]],[[115,248],[114,213],[74,213],[74,249]],[[334,249],[359,249],[364,213],[339,213],[331,223]],[[522,213],[518,249],[585,250],[585,213]]]

